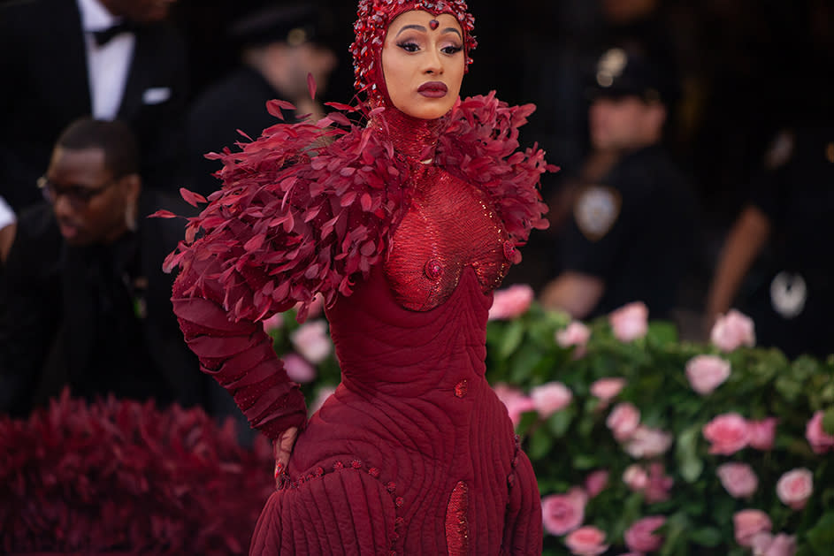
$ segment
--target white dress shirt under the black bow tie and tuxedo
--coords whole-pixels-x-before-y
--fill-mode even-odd
[[[81,27],[87,44],[87,71],[93,118],[113,119],[119,113],[125,94],[127,71],[134,57],[136,37],[118,34],[103,46],[96,44],[93,31],[111,27],[121,19],[114,17],[99,0],[76,0],[81,12]]]

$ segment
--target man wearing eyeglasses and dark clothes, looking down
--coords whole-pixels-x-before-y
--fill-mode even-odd
[[[58,139],[37,182],[45,202],[19,215],[0,276],[0,413],[26,415],[65,385],[210,408],[162,271],[183,225],[147,218],[182,209],[143,192],[138,168],[119,121],[80,119]]]

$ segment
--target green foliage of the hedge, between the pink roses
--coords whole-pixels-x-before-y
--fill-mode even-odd
[[[667,522],[660,554],[748,555],[734,538],[733,515],[759,509],[773,522],[772,533],[796,537],[797,554],[830,554],[834,547],[834,471],[826,464],[831,452],[816,454],[805,438],[815,411],[824,411],[823,430],[834,432],[834,359],[800,357],[788,361],[777,349],[739,347],[722,354],[715,347],[680,342],[669,323],[651,323],[647,334],[624,343],[615,338],[606,319],[586,324],[591,331],[585,354],[559,347],[555,333],[570,323],[568,316],[547,313],[533,305],[511,321],[487,327],[487,377],[522,393],[550,382],[566,385],[570,405],[547,418],[523,415],[516,430],[539,479],[543,497],[582,486],[596,469],[608,471],[608,486],[585,506],[583,524],[606,533],[606,554],[628,552],[624,532],[647,515]],[[708,395],[692,390],[686,363],[700,354],[730,362],[731,375]],[[625,379],[624,389],[608,404],[596,399],[591,385],[606,377]],[[640,422],[674,438],[668,451],[648,459],[631,457],[614,438],[606,419],[616,404],[639,408]],[[747,446],[732,455],[709,453],[704,426],[717,415],[736,412],[746,420],[776,417],[772,449]],[[758,476],[749,498],[733,498],[716,475],[723,463],[746,463]],[[624,483],[626,468],[661,464],[674,481],[666,500],[647,500],[645,491]],[[807,506],[794,510],[777,497],[776,484],[785,472],[808,468],[814,491]],[[570,554],[563,537],[545,534],[545,554]]]

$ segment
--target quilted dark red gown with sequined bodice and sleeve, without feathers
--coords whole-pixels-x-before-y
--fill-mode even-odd
[[[484,377],[513,243],[482,189],[408,164],[409,207],[384,263],[327,310],[342,382],[299,435],[252,554],[541,552],[532,466]],[[218,286],[187,296],[218,274],[200,258],[174,288],[180,324],[204,370],[275,438],[298,423],[297,389],[259,325],[226,317]]]

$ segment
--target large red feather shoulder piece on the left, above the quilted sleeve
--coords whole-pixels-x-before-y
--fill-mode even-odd
[[[381,262],[407,205],[408,164],[379,133],[350,125],[340,112],[272,126],[240,146],[210,155],[223,163],[223,187],[189,220],[165,269],[216,257],[222,272],[197,277],[186,294],[203,297],[219,286],[234,320],[260,320],[301,303],[302,321],[316,293],[327,304],[349,295]]]

